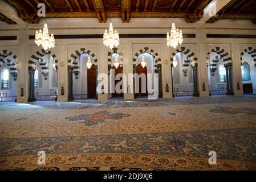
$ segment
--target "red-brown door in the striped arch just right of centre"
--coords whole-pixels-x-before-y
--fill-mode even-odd
[[[139,97],[147,97],[148,96],[148,80],[147,80],[147,67],[142,67],[141,64],[137,65],[136,69],[135,69],[136,73],[138,73],[138,75],[140,76],[139,78],[139,93],[137,93],[137,96]],[[141,75],[143,74],[144,75]],[[137,79],[136,79],[137,80]],[[142,81],[145,80],[146,84],[142,84]],[[146,85],[146,93],[142,93],[143,90],[145,90],[145,88],[143,89],[141,87],[141,85]],[[135,90],[136,91],[136,90]]]

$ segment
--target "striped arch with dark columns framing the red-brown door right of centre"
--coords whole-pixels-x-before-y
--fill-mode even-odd
[[[143,49],[140,49],[139,52],[136,52],[135,55],[133,56],[133,75],[136,73],[136,60],[139,55],[142,53],[149,53],[155,58],[155,65],[154,65],[154,73],[159,74],[159,98],[162,98],[162,61],[159,56],[159,53],[157,53],[154,49],[150,49],[148,47],[144,47]],[[136,97],[135,94],[135,79],[133,78],[133,93],[134,93],[134,98]]]

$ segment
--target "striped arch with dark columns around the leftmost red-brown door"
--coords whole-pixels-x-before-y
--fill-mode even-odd
[[[95,100],[98,98],[97,93],[97,57],[94,53],[92,53],[90,50],[86,51],[86,48],[80,48],[79,50],[76,50],[74,53],[70,55],[71,59],[68,60],[68,100],[72,101],[74,100],[73,97],[73,73],[75,74],[76,79],[79,76],[80,73],[80,67],[79,62],[76,61],[76,59],[82,55],[83,53],[86,53],[94,59],[95,69],[96,69],[96,96]]]

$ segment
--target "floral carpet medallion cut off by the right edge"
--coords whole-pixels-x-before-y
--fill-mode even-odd
[[[225,113],[225,114],[249,114],[249,115],[256,115],[256,109],[254,108],[231,108],[231,107],[216,107],[216,109],[210,109],[209,112],[211,113]]]

